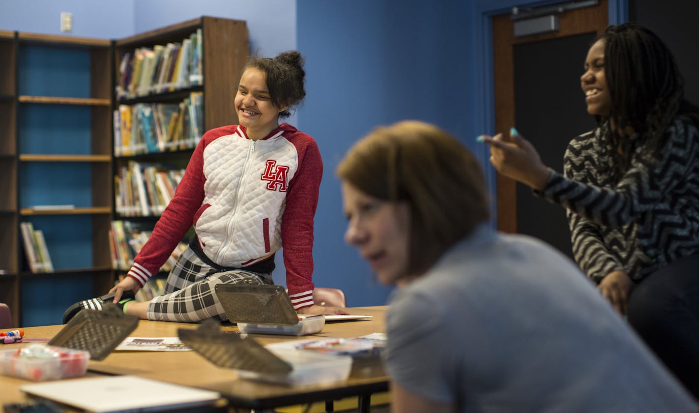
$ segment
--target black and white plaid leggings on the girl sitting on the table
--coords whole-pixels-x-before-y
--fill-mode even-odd
[[[214,317],[225,321],[226,314],[216,298],[214,287],[216,284],[237,284],[250,277],[259,284],[273,284],[271,274],[246,270],[221,272],[187,247],[168,275],[164,294],[150,300],[147,317],[154,321],[187,323]]]

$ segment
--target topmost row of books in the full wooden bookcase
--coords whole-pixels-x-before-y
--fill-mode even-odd
[[[197,29],[181,42],[124,52],[115,87],[117,100],[203,85],[201,37]]]

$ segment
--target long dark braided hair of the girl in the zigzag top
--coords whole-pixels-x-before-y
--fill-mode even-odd
[[[699,108],[684,99],[684,78],[675,57],[661,39],[635,23],[607,27],[596,41],[605,41],[605,77],[612,107],[608,129],[617,178],[626,172],[638,151],[655,159],[667,141],[665,129],[677,115],[699,125]],[[608,119],[598,119],[607,121]],[[635,136],[624,135],[626,126]]]

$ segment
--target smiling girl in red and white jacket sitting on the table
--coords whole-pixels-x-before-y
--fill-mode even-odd
[[[85,308],[101,310],[106,301],[141,319],[226,319],[215,286],[273,284],[274,255],[282,247],[296,312],[347,314],[312,297],[313,217],[323,175],[318,146],[279,122],[303,100],[304,80],[296,50],[247,62],[233,98],[240,124],[204,134],[127,277],[109,294],[69,307],[64,323]],[[168,275],[165,294],[134,300],[192,225],[196,234]]]

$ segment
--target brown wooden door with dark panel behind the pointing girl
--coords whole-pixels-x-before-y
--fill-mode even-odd
[[[557,14],[559,30],[514,36],[510,14],[493,17],[496,131],[515,126],[537,148],[547,166],[563,172],[570,139],[593,129],[580,89],[584,59],[607,27],[607,0]],[[568,256],[565,210],[534,196],[531,189],[497,177],[498,229],[545,240]]]

